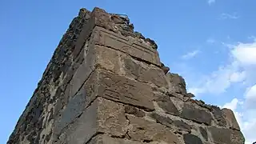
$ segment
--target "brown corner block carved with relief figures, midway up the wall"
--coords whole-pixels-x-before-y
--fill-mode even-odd
[[[88,81],[82,86],[81,91],[88,96],[86,97],[87,103],[96,97],[102,97],[137,106],[144,110],[154,110],[154,95],[150,85],[130,80],[106,70],[94,70]]]

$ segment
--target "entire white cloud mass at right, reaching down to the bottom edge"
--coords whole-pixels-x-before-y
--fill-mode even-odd
[[[251,39],[250,39],[251,40]],[[235,118],[246,138],[246,144],[256,142],[256,39],[252,42],[222,43],[228,47],[226,64],[219,66],[210,74],[189,81],[188,91],[196,98],[206,94],[221,94],[230,86],[242,84],[243,97],[234,98],[221,107],[234,111]],[[198,69],[197,69],[198,70]],[[190,71],[190,73],[193,73]],[[190,76],[187,74],[187,76]],[[193,80],[193,78],[191,78]],[[246,89],[246,87],[248,87]],[[228,95],[227,95],[228,96]],[[242,95],[241,95],[242,96]]]

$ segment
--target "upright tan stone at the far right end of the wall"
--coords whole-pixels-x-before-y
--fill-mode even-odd
[[[235,130],[240,130],[240,127],[236,118],[234,117],[234,113],[232,110],[224,108],[222,109],[222,113],[224,114],[224,117],[226,119],[227,126]]]

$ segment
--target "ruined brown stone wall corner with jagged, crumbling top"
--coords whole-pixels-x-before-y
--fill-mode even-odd
[[[81,9],[8,144],[243,144],[231,110],[194,100],[129,19]]]

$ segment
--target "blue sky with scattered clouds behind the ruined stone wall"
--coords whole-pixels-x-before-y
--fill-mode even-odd
[[[6,143],[78,10],[128,14],[196,98],[234,110],[256,141],[256,1],[1,1],[0,143]],[[255,37],[254,37],[255,36]]]

